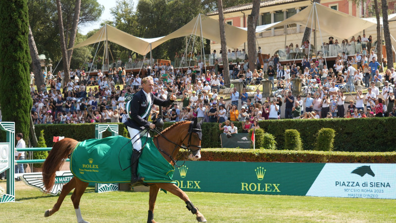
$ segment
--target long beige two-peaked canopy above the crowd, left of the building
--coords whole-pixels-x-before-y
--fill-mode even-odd
[[[241,44],[247,41],[247,31],[238,27],[225,24],[225,32],[226,37],[229,37],[227,39],[227,46],[238,48]],[[164,37],[151,39],[139,38],[106,24],[90,38],[75,45],[71,49],[108,40],[140,55],[146,55],[148,52],[150,52],[150,49],[156,48],[165,41],[178,37],[189,36],[192,34],[202,36],[203,38],[212,41],[220,42],[219,21],[209,18],[205,15],[198,14],[193,20],[173,33]]]

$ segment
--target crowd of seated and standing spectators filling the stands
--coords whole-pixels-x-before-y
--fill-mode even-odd
[[[259,64],[253,71],[248,69],[248,56],[244,50],[229,50],[228,53],[244,57],[241,63],[229,64],[230,78],[239,79],[244,84],[242,92],[233,88],[229,94],[223,92],[220,95],[220,90],[225,88],[224,75],[218,66],[216,52],[213,52],[214,66],[204,66],[200,58],[197,65],[187,70],[175,69],[170,63],[154,64],[152,68],[148,65],[147,74],[154,79],[153,93],[163,99],[175,93],[181,100],[162,108],[162,111],[154,106],[151,119],[162,112],[165,121],[190,120],[193,117],[220,124],[226,120],[243,121],[246,122],[243,131],[246,131],[247,122],[250,127],[258,126],[255,121],[279,119],[282,112],[285,118],[395,115],[392,84],[396,81],[396,72],[394,69],[386,70],[383,78],[374,52],[366,52],[362,56],[356,53],[349,57],[343,53],[330,69],[322,57],[303,57],[298,64],[281,65],[278,55],[274,55],[262,60],[263,69]],[[118,63],[125,65],[122,61]],[[112,67],[106,75],[99,70],[97,76],[87,75],[85,67],[71,70],[67,83],[63,83],[60,71],[56,76],[44,71],[43,75],[47,85],[35,89],[31,84],[35,124],[124,122],[128,118],[126,101],[140,89],[142,82],[139,74],[127,73],[126,67],[122,66]],[[264,98],[258,88],[253,94],[249,92],[250,86],[259,84],[264,78],[272,81],[271,98]],[[300,95],[296,99],[292,95],[293,79],[301,79],[303,101]],[[355,86],[363,85],[367,87],[367,94],[363,94],[362,88],[356,88],[356,96],[345,111],[345,90],[354,92]],[[281,111],[283,103],[285,110]]]

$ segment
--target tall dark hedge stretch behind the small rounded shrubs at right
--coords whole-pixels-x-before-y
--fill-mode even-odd
[[[334,118],[281,119],[259,123],[265,132],[275,136],[279,150],[284,149],[286,129],[297,129],[304,150],[315,148],[321,128],[335,130],[333,151],[391,152],[395,151],[396,118]]]

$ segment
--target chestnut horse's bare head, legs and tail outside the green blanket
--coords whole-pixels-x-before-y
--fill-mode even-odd
[[[200,143],[201,143],[201,125],[202,122],[197,123],[197,119],[192,121],[181,121],[173,124],[172,126],[163,130],[160,134],[153,137],[153,142],[158,148],[161,155],[173,166],[175,166],[175,158],[180,148],[190,150],[191,154],[189,159],[198,160],[200,159]],[[45,188],[52,188],[55,181],[55,172],[58,170],[65,159],[73,152],[78,142],[74,139],[65,138],[56,142],[52,150],[49,152],[47,160],[43,165],[43,181]],[[187,145],[187,146],[186,146]],[[190,149],[190,147],[192,149]],[[131,148],[132,149],[132,148]],[[120,169],[120,171],[122,171]],[[128,171],[128,169],[126,170]],[[144,177],[144,176],[143,176]],[[198,211],[198,208],[194,207],[191,203],[187,194],[181,190],[174,183],[148,183],[150,186],[149,201],[148,201],[148,223],[155,223],[153,220],[153,211],[155,200],[159,188],[162,188],[170,193],[180,197],[186,204],[187,209],[197,216],[198,222],[206,222],[206,219]],[[71,200],[76,212],[78,223],[87,223],[83,220],[80,211],[80,199],[85,189],[88,186],[88,182],[84,182],[77,177],[73,177],[68,183],[66,183],[59,195],[59,198],[55,205],[45,212],[45,217],[49,217],[57,212],[63,199],[74,190],[71,195]]]

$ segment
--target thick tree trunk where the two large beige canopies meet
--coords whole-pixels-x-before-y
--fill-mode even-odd
[[[251,72],[257,67],[256,51],[256,26],[260,12],[260,0],[253,0],[250,15],[247,16],[247,54],[249,56],[249,69]]]

